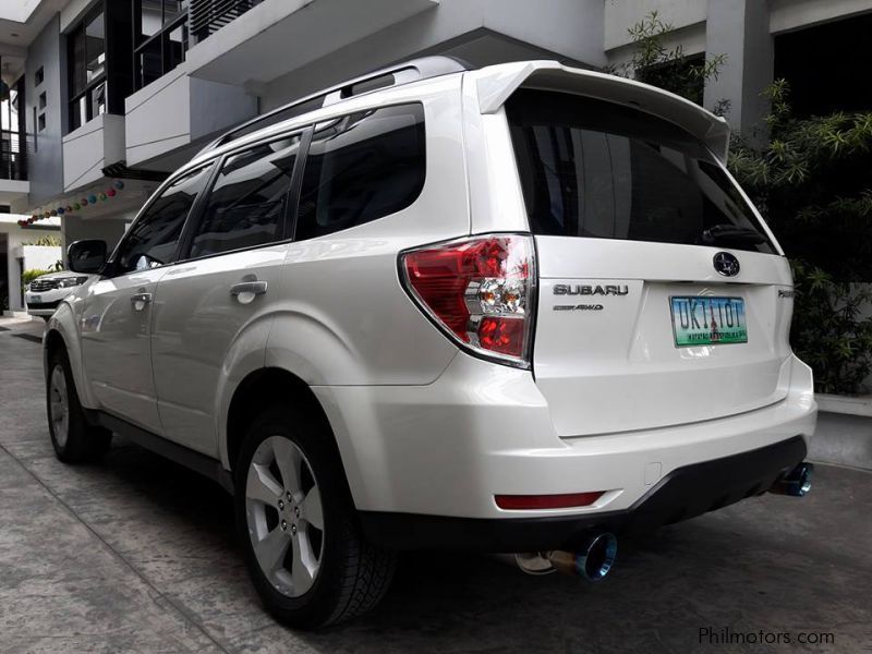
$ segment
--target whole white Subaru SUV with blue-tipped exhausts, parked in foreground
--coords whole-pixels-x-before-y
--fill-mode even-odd
[[[790,268],[726,123],[550,61],[427,58],[172,174],[45,336],[58,457],[111,434],[234,496],[266,607],[376,604],[395,553],[606,574],[616,534],[802,495]]]

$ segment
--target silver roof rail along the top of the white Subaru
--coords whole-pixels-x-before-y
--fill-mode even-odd
[[[327,107],[358,95],[363,95],[379,88],[399,86],[411,82],[417,82],[419,80],[439,77],[441,75],[461,73],[469,70],[471,70],[471,66],[460,59],[434,56],[412,59],[411,61],[366,73],[360,77],[354,77],[353,80],[342,82],[336,86],[330,86],[324,90],[313,93],[299,100],[272,109],[262,116],[256,116],[213,141],[203,148],[198,155],[235,141],[252,132],[256,132],[262,128],[289,120],[296,116],[302,116],[308,111],[314,111],[315,109],[320,109],[322,107]]]

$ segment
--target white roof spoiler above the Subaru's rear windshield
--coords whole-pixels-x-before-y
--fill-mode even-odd
[[[675,123],[705,143],[724,164],[729,153],[727,121],[673,93],[605,73],[565,66],[557,61],[523,61],[470,73],[482,113],[495,113],[521,86],[562,90],[627,105]]]

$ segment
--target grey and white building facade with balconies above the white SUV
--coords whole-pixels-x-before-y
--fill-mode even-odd
[[[21,0],[0,9],[0,204],[111,243],[169,171],[258,113],[425,55],[619,65],[654,10],[667,45],[726,56],[703,97],[735,130],[776,76],[809,112],[872,108],[849,83],[872,63],[872,0]]]

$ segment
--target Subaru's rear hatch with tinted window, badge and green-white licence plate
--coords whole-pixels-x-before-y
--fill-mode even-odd
[[[786,259],[708,147],[553,90],[506,104],[535,234],[536,384],[561,436],[717,419],[786,396]]]

